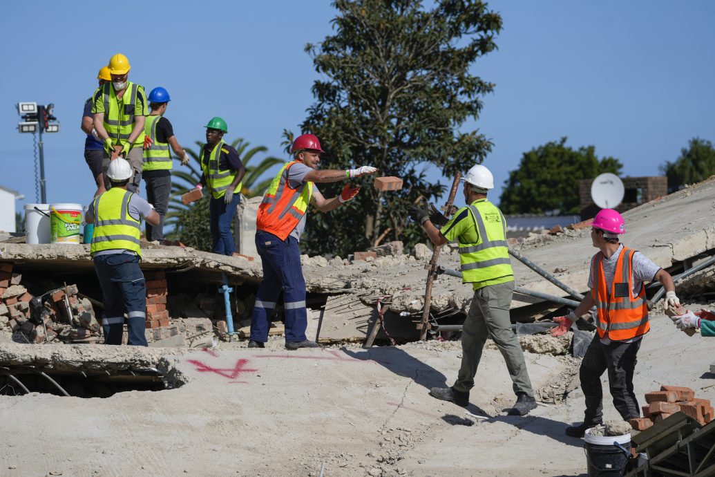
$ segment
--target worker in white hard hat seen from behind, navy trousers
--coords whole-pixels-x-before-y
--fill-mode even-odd
[[[112,187],[94,197],[87,210],[87,222],[94,222],[92,259],[102,287],[102,328],[104,343],[121,345],[124,313],[127,313],[128,345],[147,346],[144,322],[147,316],[147,292],[139,268],[139,220],[159,225],[159,214],[146,200],[127,187],[134,170],[122,157],[107,169]]]

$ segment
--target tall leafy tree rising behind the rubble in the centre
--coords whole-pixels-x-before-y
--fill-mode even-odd
[[[380,194],[372,178],[350,205],[310,214],[310,252],[344,255],[381,240],[414,242],[406,207],[442,194],[430,182],[430,164],[445,177],[482,162],[491,143],[478,130],[462,131],[478,119],[480,100],[493,84],[470,73],[476,59],[496,48],[501,16],[482,1],[443,0],[433,9],[420,0],[336,0],[335,34],[308,44],[321,75],[312,87],[315,103],[302,132],[320,138],[322,168],[360,165],[403,178],[400,192]],[[324,185],[336,195],[342,183]],[[311,240],[311,239],[315,240]]]

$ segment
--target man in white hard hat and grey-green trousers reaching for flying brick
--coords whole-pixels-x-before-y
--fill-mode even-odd
[[[494,340],[506,361],[516,393],[510,415],[526,415],[536,408],[524,353],[511,330],[509,308],[514,291],[514,272],[506,245],[506,219],[487,199],[494,187],[492,173],[475,165],[463,181],[464,200],[468,204],[451,220],[432,207],[410,208],[410,217],[425,228],[435,246],[447,242],[459,244],[462,281],[471,283],[474,296],[462,330],[462,365],[451,388],[432,388],[430,395],[461,406],[469,404],[469,392],[488,337]],[[440,225],[438,230],[435,225]]]

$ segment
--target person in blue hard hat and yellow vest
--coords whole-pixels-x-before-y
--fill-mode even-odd
[[[189,154],[179,145],[174,136],[174,128],[169,119],[164,117],[171,98],[169,92],[156,87],[149,92],[151,112],[144,122],[144,164],[142,177],[147,184],[147,201],[154,205],[160,220],[157,227],[147,223],[147,240],[164,242],[164,217],[169,209],[169,195],[172,192],[172,153],[181,158],[182,166],[189,164]]]

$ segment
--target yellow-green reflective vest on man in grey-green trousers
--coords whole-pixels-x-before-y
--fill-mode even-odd
[[[462,281],[485,282],[514,275],[506,244],[506,219],[501,210],[488,200],[474,202],[468,210],[479,237],[476,243],[462,242],[459,237]],[[487,216],[490,220],[485,220]]]

